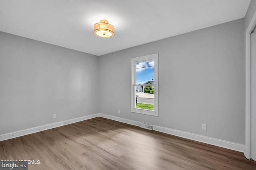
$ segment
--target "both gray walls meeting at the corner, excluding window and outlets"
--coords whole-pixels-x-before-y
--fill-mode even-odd
[[[0,134],[100,112],[244,144],[244,25],[101,57],[0,32]],[[131,113],[130,58],[154,53],[159,117]]]

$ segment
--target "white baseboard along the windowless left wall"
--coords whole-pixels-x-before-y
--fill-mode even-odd
[[[50,123],[50,124],[47,124],[47,125],[32,127],[32,128],[29,128],[29,129],[23,129],[23,130],[11,132],[11,133],[5,133],[5,134],[0,135],[0,141],[12,139],[12,138],[20,137],[20,136],[24,136],[24,135],[29,135],[29,134],[40,132],[40,131],[45,131],[45,130],[52,129],[52,128],[55,128],[55,127],[60,127],[60,126],[68,125],[68,124],[71,124],[71,123],[76,123],[78,121],[84,121],[84,120],[87,120],[87,119],[92,119],[94,117],[99,117],[99,114],[96,113],[96,114],[92,114],[92,115],[87,115],[87,116],[83,116],[83,117],[78,117],[78,118],[74,118],[74,119],[65,120],[65,121],[59,121],[59,122],[56,122],[56,123]]]

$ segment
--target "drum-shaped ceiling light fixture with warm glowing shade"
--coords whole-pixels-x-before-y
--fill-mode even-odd
[[[110,38],[114,36],[115,28],[109,24],[107,20],[100,20],[94,24],[94,34],[102,38]]]

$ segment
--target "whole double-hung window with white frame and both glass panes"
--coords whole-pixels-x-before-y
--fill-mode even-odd
[[[131,59],[131,112],[158,116],[158,54]]]

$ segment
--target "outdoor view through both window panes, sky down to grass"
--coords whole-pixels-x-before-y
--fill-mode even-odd
[[[136,108],[154,110],[155,62],[136,63]]]

